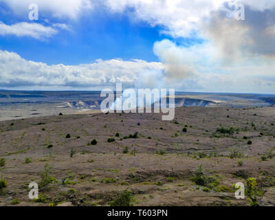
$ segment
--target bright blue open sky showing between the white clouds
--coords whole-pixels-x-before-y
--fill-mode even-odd
[[[39,21],[34,22],[44,24],[43,19],[46,18],[41,13]],[[57,22],[55,20],[52,22]],[[8,17],[7,14],[1,14],[0,21],[12,24],[28,19],[13,17],[9,13]],[[27,60],[50,65],[77,65],[98,58],[158,61],[152,51],[153,43],[169,38],[159,33],[159,27],[152,28],[144,21],[133,23],[124,14],[91,13],[77,22],[69,21],[69,25],[72,25],[72,31],[61,32],[45,41],[34,41],[28,36],[0,36],[0,49],[17,52]]]

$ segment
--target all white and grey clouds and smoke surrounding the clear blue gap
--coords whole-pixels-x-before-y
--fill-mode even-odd
[[[47,65],[0,51],[1,87],[93,89],[119,82],[128,87],[161,86],[181,91],[275,92],[275,1],[0,1],[19,15],[25,13],[29,3],[37,3],[41,12],[61,19],[61,23],[49,27],[0,23],[2,35],[50,37],[69,29],[69,25],[62,24],[63,19],[77,20],[83,12],[94,13],[100,6],[109,13],[126,13],[134,21],[157,25],[175,42],[186,37],[202,40],[188,47],[173,40],[157,41],[153,45],[159,58],[156,63],[113,59],[82,65]],[[236,3],[245,5],[245,21],[234,19]]]

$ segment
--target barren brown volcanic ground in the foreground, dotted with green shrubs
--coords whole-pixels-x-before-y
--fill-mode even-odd
[[[108,206],[131,190],[134,206],[250,206],[233,188],[249,177],[259,205],[275,205],[274,107],[180,107],[171,122],[161,116],[0,122],[0,179],[7,181],[0,205]],[[36,200],[28,197],[33,181],[41,186]]]

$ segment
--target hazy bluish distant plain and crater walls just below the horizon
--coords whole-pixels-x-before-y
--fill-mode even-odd
[[[0,120],[100,111],[100,91],[0,91]],[[168,101],[168,100],[167,100]],[[274,94],[176,92],[176,107],[264,107]]]

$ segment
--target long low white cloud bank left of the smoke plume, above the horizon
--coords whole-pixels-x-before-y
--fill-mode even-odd
[[[141,60],[98,60],[82,65],[47,65],[26,61],[16,53],[0,50],[0,87],[131,87],[143,72],[164,69],[162,63]]]

